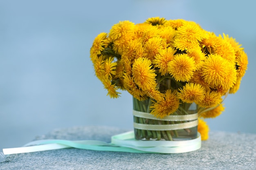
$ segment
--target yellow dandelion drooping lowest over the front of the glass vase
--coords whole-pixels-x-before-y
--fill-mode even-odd
[[[176,93],[171,93],[171,90],[167,90],[164,94],[164,99],[157,101],[150,106],[151,114],[156,117],[165,117],[173,114],[179,108],[180,102],[176,96]]]

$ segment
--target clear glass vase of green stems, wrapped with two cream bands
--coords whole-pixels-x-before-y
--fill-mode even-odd
[[[197,138],[197,105],[181,103],[171,115],[159,118],[150,114],[152,99],[133,97],[135,139],[180,141]]]

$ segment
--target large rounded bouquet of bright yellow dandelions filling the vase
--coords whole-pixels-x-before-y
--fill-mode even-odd
[[[108,95],[116,98],[118,89],[128,91],[135,110],[162,118],[189,114],[188,108],[196,104],[202,140],[209,131],[203,118],[222,113],[223,96],[238,91],[248,64],[234,38],[216,36],[192,21],[159,17],[113,25],[110,33],[95,38],[90,58]],[[160,139],[155,132],[140,133]],[[175,135],[171,131],[164,139]]]

